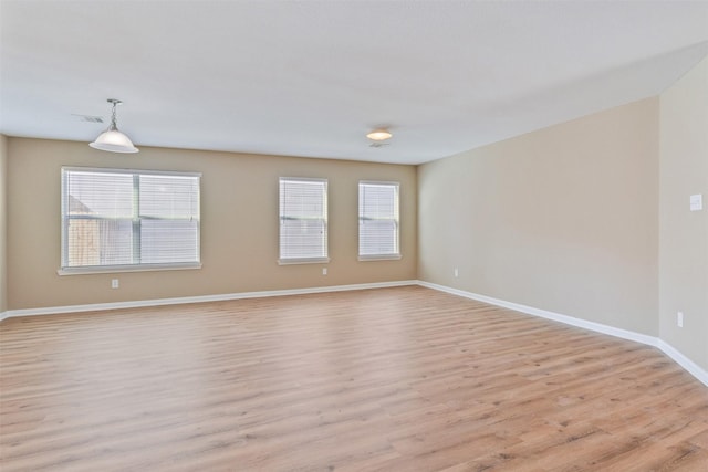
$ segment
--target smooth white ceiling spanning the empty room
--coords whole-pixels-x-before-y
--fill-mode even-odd
[[[138,147],[402,164],[656,95],[708,54],[708,0],[1,0],[0,27],[6,135],[93,140],[74,114],[115,97]]]

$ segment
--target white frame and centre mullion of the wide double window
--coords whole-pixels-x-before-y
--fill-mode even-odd
[[[136,179],[139,180],[140,176],[174,176],[174,177],[196,177],[199,186],[197,193],[197,235],[196,235],[196,256],[194,262],[170,262],[170,263],[133,263],[133,264],[103,264],[103,265],[79,265],[70,266],[69,264],[69,221],[72,219],[67,214],[69,210],[69,186],[66,179],[71,172],[96,172],[96,174],[118,174],[118,175],[132,175],[133,176],[133,200],[132,200],[132,224],[133,224],[133,238],[136,238],[136,225],[139,231],[139,223],[142,220],[160,220],[159,218],[142,218],[139,212],[139,198],[136,192],[139,191],[139,187],[136,187]],[[145,271],[173,271],[173,270],[194,270],[201,269],[201,172],[192,171],[173,171],[173,170],[152,170],[152,169],[125,169],[114,167],[79,167],[79,166],[62,166],[61,168],[61,251],[60,251],[60,269],[56,271],[59,275],[81,275],[81,274],[102,274],[102,273],[118,273],[118,272],[145,272]],[[137,202],[137,206],[136,206]],[[194,217],[192,217],[194,218]],[[96,218],[82,218],[92,219],[96,221],[110,221],[105,217]],[[135,248],[134,248],[135,250]]]

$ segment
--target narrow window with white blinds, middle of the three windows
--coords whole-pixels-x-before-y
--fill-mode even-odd
[[[329,261],[327,181],[281,178],[279,263]]]

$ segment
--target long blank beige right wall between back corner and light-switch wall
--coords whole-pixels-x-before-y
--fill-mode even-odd
[[[658,335],[658,98],[426,164],[418,207],[420,280]]]

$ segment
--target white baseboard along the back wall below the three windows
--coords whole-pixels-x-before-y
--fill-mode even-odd
[[[43,308],[9,310],[4,318],[15,316],[56,315],[61,313],[97,312],[105,310],[136,308],[145,306],[179,305],[184,303],[223,302],[228,300],[262,298],[269,296],[303,295],[310,293],[344,292],[352,290],[386,289],[392,286],[416,285],[418,281],[377,282],[353,285],[332,285],[311,289],[269,290],[261,292],[239,292],[218,295],[179,296],[175,298],[139,300],[134,302],[92,303],[87,305],[50,306]],[[0,318],[4,319],[4,318]]]

